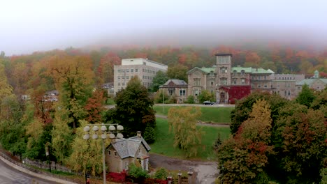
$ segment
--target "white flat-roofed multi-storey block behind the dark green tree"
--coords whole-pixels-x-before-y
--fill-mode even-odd
[[[138,76],[143,86],[151,86],[152,79],[159,70],[166,72],[168,66],[143,58],[122,59],[122,65],[114,66],[114,93],[125,89],[133,76]]]

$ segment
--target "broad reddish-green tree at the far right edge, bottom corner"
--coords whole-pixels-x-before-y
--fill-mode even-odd
[[[276,174],[284,174],[283,183],[319,183],[319,171],[326,167],[327,158],[324,113],[293,104],[281,109],[280,114],[274,128],[276,155],[271,161],[278,162]]]

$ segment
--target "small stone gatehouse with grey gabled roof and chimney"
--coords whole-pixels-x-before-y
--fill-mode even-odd
[[[129,164],[139,162],[143,169],[149,169],[151,148],[143,139],[141,132],[128,139],[112,139],[106,151],[106,163],[110,172],[129,169]]]

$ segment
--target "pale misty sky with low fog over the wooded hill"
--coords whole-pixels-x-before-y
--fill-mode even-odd
[[[327,45],[326,0],[3,0],[0,7],[7,56],[96,44]]]

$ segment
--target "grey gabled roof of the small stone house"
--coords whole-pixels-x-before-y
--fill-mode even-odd
[[[137,139],[116,139],[112,142],[113,148],[117,151],[120,158],[135,157],[141,141]]]

